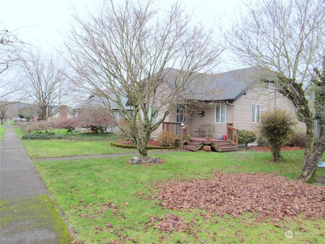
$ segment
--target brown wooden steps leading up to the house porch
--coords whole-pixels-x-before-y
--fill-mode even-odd
[[[187,140],[186,145],[183,145],[183,149],[198,151],[201,148],[203,150],[203,146],[211,146],[211,151],[217,151],[219,153],[223,151],[238,150],[238,146],[233,144],[230,140],[220,140],[217,138],[210,138],[210,140],[207,140],[205,137],[196,136],[192,136],[190,140]]]

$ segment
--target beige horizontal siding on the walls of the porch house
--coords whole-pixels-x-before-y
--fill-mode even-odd
[[[226,134],[226,125],[232,124],[239,130],[256,131],[257,124],[251,123],[251,105],[261,105],[261,112],[274,110],[277,108],[286,109],[294,113],[294,104],[275,91],[264,88],[252,88],[241,96],[234,104],[226,104],[226,123],[215,123],[215,106],[207,104],[206,106],[196,106],[186,108],[186,123],[188,124],[188,134],[193,136],[194,128],[197,129],[202,124],[211,124],[214,126],[213,137]],[[198,111],[204,111],[204,116],[200,117]],[[158,116],[159,117],[159,116]],[[158,119],[157,117],[157,119]],[[177,110],[172,111],[165,119],[168,122],[177,121]],[[305,129],[304,123],[298,121],[298,126]],[[156,136],[161,131],[162,125],[152,134]],[[196,133],[195,136],[198,136]],[[205,135],[201,135],[205,136]]]

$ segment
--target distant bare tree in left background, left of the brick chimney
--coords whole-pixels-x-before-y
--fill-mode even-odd
[[[69,84],[65,79],[65,67],[59,59],[46,56],[40,50],[30,50],[23,57],[23,71],[27,85],[24,92],[38,105],[39,119],[46,120],[67,101]]]

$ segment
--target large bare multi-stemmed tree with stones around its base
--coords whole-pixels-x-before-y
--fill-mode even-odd
[[[114,106],[125,114],[130,130],[118,126],[142,160],[151,133],[170,111],[193,100],[198,87],[204,89],[204,74],[223,50],[178,3],[167,10],[157,4],[104,1],[87,20],[76,16],[66,43],[77,85],[99,96],[113,116]]]

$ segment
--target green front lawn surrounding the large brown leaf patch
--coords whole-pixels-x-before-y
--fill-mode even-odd
[[[27,149],[27,151],[29,148]],[[322,243],[324,220],[254,222],[254,214],[242,218],[205,216],[203,209],[175,211],[146,200],[152,183],[171,178],[210,178],[215,172],[267,172],[294,179],[300,173],[303,151],[282,153],[285,162],[272,163],[271,153],[172,153],[155,155],[166,164],[129,165],[130,157],[35,162],[35,166],[67,218],[76,239],[84,243]],[[323,156],[324,159],[324,156]],[[325,169],[317,170],[325,176]],[[154,191],[153,191],[154,192]],[[157,229],[152,217],[176,214],[191,224],[186,232]],[[294,235],[286,230],[317,232]],[[243,240],[243,242],[241,241]],[[110,242],[111,243],[111,242]]]

